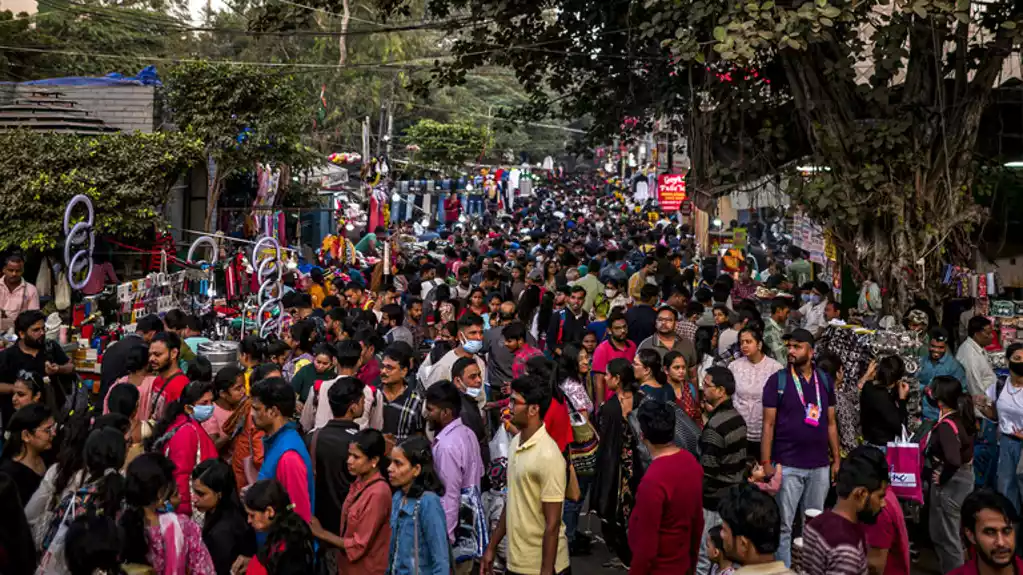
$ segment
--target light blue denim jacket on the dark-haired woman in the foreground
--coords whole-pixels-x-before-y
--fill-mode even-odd
[[[414,557],[415,548],[418,558]],[[450,557],[441,498],[432,491],[417,499],[406,499],[404,492],[396,492],[391,501],[388,575],[449,575]]]

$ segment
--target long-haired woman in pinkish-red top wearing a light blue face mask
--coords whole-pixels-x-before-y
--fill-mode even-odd
[[[174,461],[174,481],[181,494],[177,512],[191,514],[188,480],[198,461],[217,457],[217,445],[203,429],[203,423],[213,416],[213,386],[204,382],[188,384],[181,397],[167,406],[164,417],[152,431],[146,445]]]

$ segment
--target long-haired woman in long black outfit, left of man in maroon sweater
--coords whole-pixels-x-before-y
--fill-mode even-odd
[[[619,563],[628,565],[632,554],[626,529],[642,471],[650,461],[634,413],[643,395],[627,359],[611,360],[605,382],[613,395],[601,406],[597,416],[601,443],[591,505],[601,517],[608,546]]]

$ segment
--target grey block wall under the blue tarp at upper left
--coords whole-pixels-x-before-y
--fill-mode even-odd
[[[153,131],[153,105],[155,88],[152,86],[27,86],[15,85],[19,98],[31,97],[33,93],[58,94],[59,100],[76,102],[76,108],[84,109],[106,123],[107,126],[125,132]]]

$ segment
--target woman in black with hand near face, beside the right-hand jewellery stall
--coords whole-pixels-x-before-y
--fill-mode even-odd
[[[882,451],[887,450],[889,441],[901,435],[905,425],[909,384],[902,379],[904,375],[902,358],[888,355],[863,378],[859,392],[859,427],[863,441]]]

